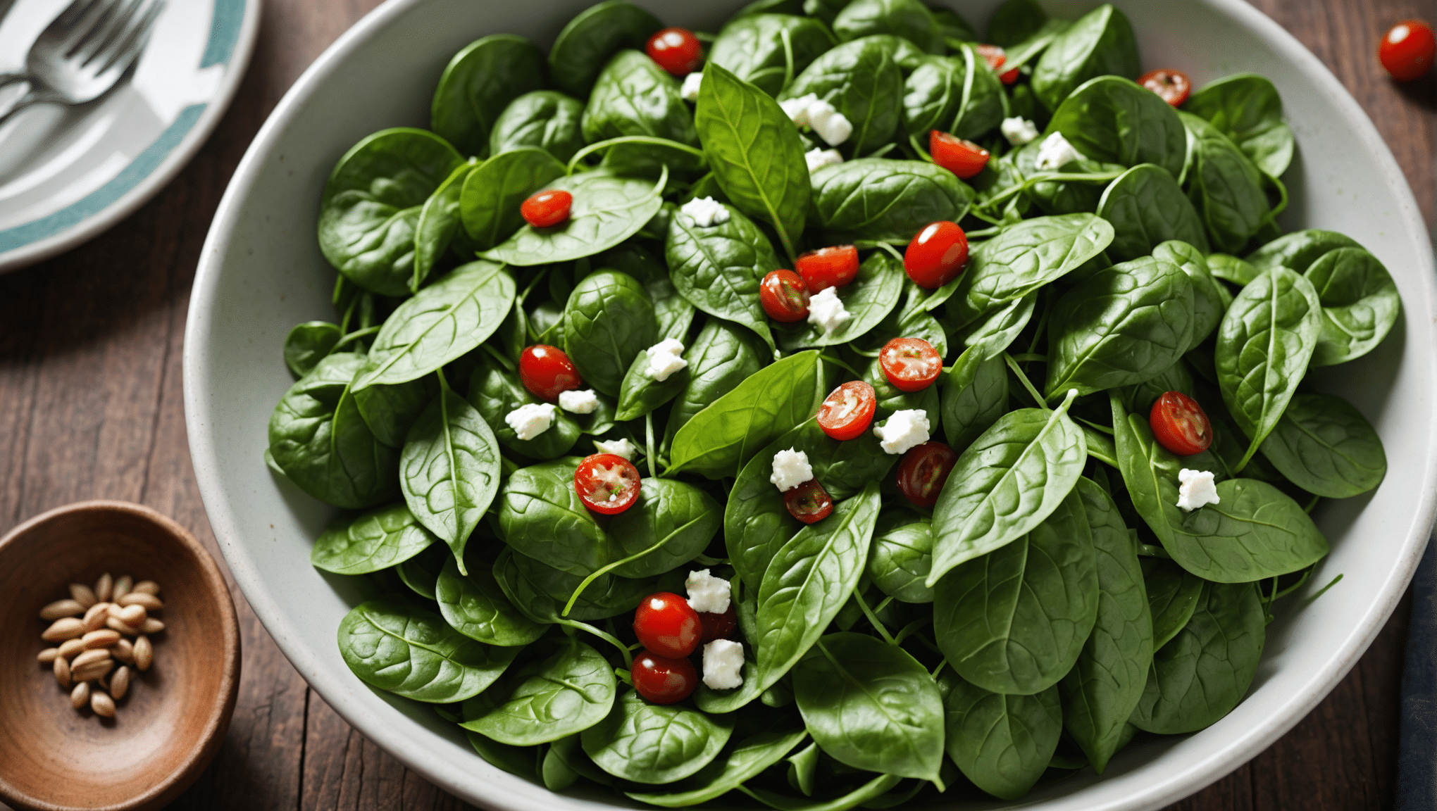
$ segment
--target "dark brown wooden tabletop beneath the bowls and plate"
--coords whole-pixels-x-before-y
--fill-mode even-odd
[[[249,75],[198,156],[109,233],[0,277],[0,515],[119,498],[188,527],[218,557],[185,444],[180,355],[200,247],[246,145],[299,73],[378,0],[263,0]],[[1437,225],[1437,80],[1397,86],[1374,56],[1437,0],[1257,0],[1377,122]],[[316,191],[318,194],[318,191]],[[276,347],[277,356],[279,347]],[[233,583],[231,583],[233,589]],[[220,755],[171,805],[204,811],[467,808],[352,731],[270,642],[234,589],[239,708]],[[1408,603],[1292,732],[1174,808],[1388,808]]]

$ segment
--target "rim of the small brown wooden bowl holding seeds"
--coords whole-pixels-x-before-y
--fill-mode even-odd
[[[76,512],[116,512],[125,514],[135,518],[142,518],[151,524],[158,525],[170,537],[175,538],[180,545],[185,547],[190,554],[200,563],[200,576],[205,581],[208,591],[217,594],[220,604],[220,634],[218,642],[224,649],[223,653],[223,675],[220,678],[220,693],[221,698],[214,709],[210,712],[204,722],[203,744],[193,749],[184,761],[181,761],[164,779],[149,785],[144,794],[132,797],[131,800],[114,805],[86,805],[86,811],[129,811],[132,808],[161,808],[180,797],[184,789],[190,788],[200,774],[210,765],[214,755],[220,752],[220,745],[224,744],[224,733],[230,726],[230,718],[234,715],[234,705],[240,695],[240,624],[234,613],[234,599],[230,596],[230,587],[224,581],[224,574],[220,571],[220,564],[214,561],[214,555],[210,550],[204,548],[204,544],[195,538],[190,530],[185,530],[174,518],[164,515],[162,512],[145,507],[144,504],[132,504],[128,501],[111,501],[111,500],[92,500],[92,501],[76,501],[73,504],[66,504],[63,507],[56,507],[55,510],[47,510],[39,515],[24,521],[19,527],[10,530],[0,537],[0,551],[16,541],[16,538],[30,533],[40,524],[46,524],[56,518],[65,515],[72,515]],[[34,811],[80,811],[79,807],[70,805],[56,805],[46,800],[23,794],[10,785],[9,781],[0,775],[0,797],[6,802],[10,802],[19,808],[30,808]]]

